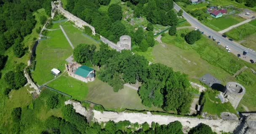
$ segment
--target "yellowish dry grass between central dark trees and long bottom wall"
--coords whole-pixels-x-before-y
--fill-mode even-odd
[[[163,111],[161,108],[148,108],[141,103],[136,90],[125,87],[124,89],[115,93],[113,88],[107,83],[98,79],[93,82],[88,82],[87,101],[101,104],[105,109],[127,108],[133,110],[149,110],[149,111]]]

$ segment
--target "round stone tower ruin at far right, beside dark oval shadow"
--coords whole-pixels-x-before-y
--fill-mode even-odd
[[[226,84],[226,89],[224,97],[228,98],[231,105],[236,109],[245,94],[245,88],[237,82],[228,82]]]

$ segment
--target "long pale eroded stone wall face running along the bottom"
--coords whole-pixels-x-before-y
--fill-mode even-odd
[[[82,114],[83,116],[88,116],[88,111],[81,106],[81,104],[77,101],[66,101],[65,104],[72,104],[74,106],[74,109],[77,113]],[[176,117],[176,116],[163,116],[163,115],[153,115],[150,112],[147,112],[147,114],[144,113],[116,113],[111,111],[104,111],[101,113],[100,111],[93,110],[93,121],[97,121],[99,123],[101,122],[107,122],[109,120],[118,122],[118,121],[130,121],[131,123],[138,122],[139,124],[143,124],[144,122],[147,122],[148,124],[151,124],[153,121],[157,122],[158,124],[169,124],[173,121],[180,121],[182,126],[187,129],[191,129],[192,127],[197,126],[200,123],[209,125],[213,131],[216,131],[217,133],[221,134],[220,131],[224,132],[233,132],[235,129],[237,129],[238,126],[240,126],[241,121],[238,120],[208,120],[208,119],[198,119],[198,118],[190,118],[190,117]],[[251,134],[251,133],[249,133]],[[256,134],[256,133],[254,133]]]

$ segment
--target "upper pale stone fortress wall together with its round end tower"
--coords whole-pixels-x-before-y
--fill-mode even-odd
[[[51,12],[52,16],[54,16],[55,11],[57,11],[57,13],[64,15],[70,21],[74,22],[77,27],[84,28],[83,26],[88,26],[91,28],[93,35],[96,34],[95,28],[93,26],[89,25],[82,19],[80,19],[80,18],[76,17],[75,15],[72,15],[68,11],[64,10],[62,8],[62,3],[60,0],[52,2],[51,5],[52,5],[52,12]],[[108,39],[104,38],[103,36],[100,36],[100,39],[105,44],[108,44],[112,49],[115,49],[119,52],[121,52],[121,50],[123,50],[123,49],[131,50],[131,37],[128,35],[121,36],[120,41],[118,41],[117,44],[113,43],[112,41],[109,41]]]

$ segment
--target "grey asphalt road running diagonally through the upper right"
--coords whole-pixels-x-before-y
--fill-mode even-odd
[[[179,5],[177,5],[176,3],[174,3],[174,9],[179,11],[181,8],[179,7]],[[244,51],[248,51],[247,52],[247,57],[250,59],[256,59],[256,52],[253,50],[250,50],[240,44],[238,44],[235,41],[229,41],[227,38],[222,37],[222,35],[214,30],[212,30],[211,28],[208,28],[207,26],[203,25],[202,23],[200,23],[199,21],[197,21],[197,19],[193,18],[191,15],[189,15],[187,12],[185,12],[183,10],[183,17],[193,26],[193,27],[197,27],[198,29],[200,29],[200,31],[204,32],[205,35],[207,36],[213,36],[213,38],[216,39],[216,41],[220,41],[222,46],[229,46],[229,48],[231,49],[231,52],[234,54],[240,53],[241,55],[243,54]],[[237,51],[237,52],[234,52]]]

